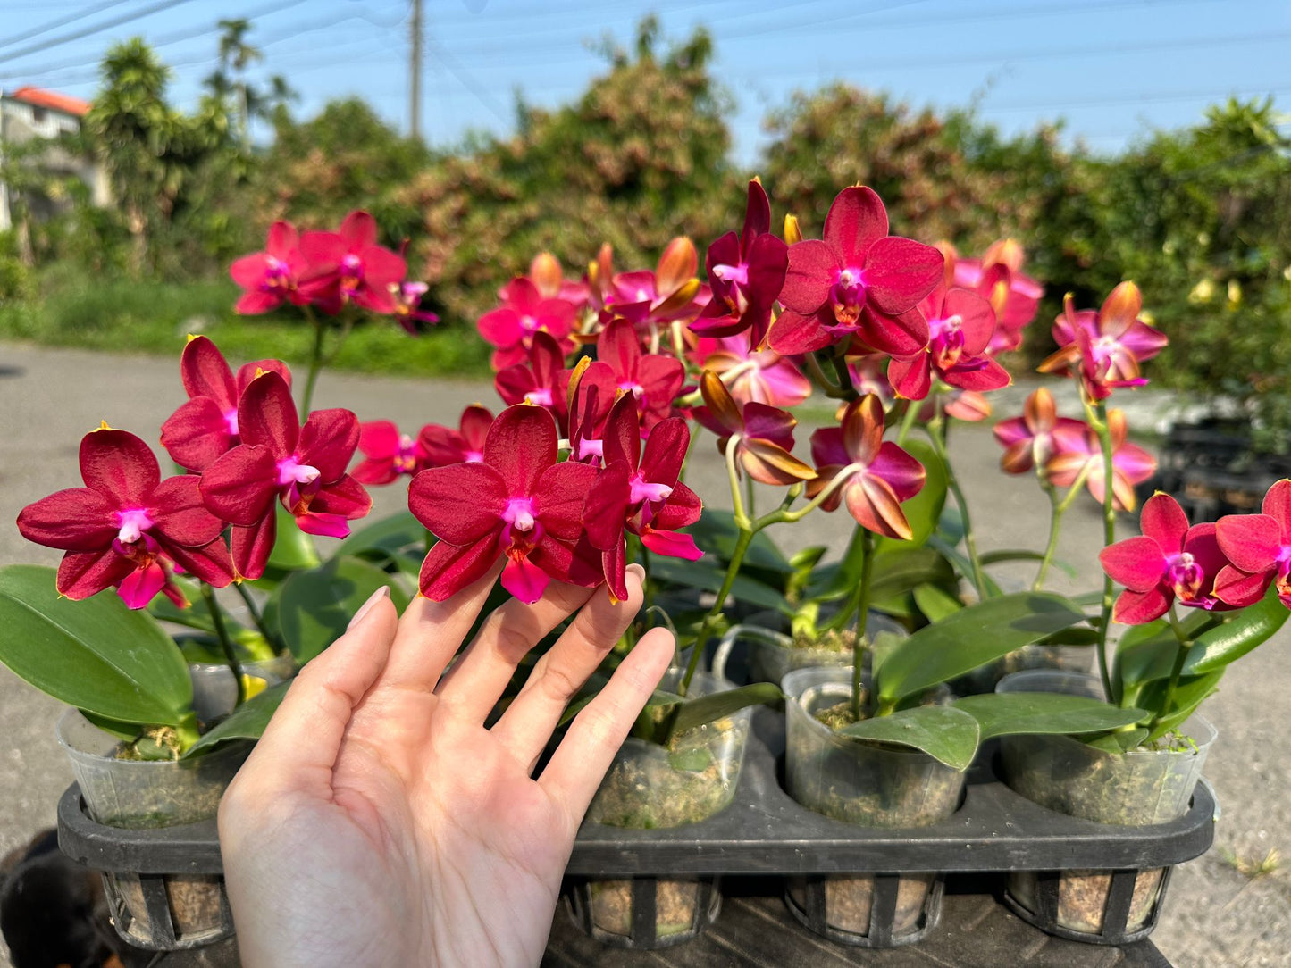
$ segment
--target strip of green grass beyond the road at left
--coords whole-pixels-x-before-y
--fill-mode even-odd
[[[46,346],[177,355],[188,333],[209,336],[231,361],[309,360],[314,333],[290,310],[267,316],[232,312],[238,290],[226,281],[90,281],[46,274],[40,298],[0,305],[0,338]],[[333,337],[334,338],[334,337]],[[332,342],[327,345],[330,352]],[[426,377],[487,377],[488,347],[463,325],[409,336],[394,320],[356,325],[330,369]]]

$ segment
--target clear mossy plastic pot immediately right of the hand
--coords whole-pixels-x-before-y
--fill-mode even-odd
[[[680,671],[664,678],[675,688]],[[691,694],[731,688],[700,672]],[[753,710],[744,709],[676,737],[670,749],[629,737],[615,756],[587,820],[615,827],[678,827],[711,817],[735,798]],[[679,945],[707,928],[722,907],[717,878],[640,876],[572,887],[571,914],[598,941],[616,947]]]

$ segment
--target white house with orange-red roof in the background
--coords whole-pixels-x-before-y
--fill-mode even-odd
[[[75,177],[89,190],[93,204],[110,201],[107,176],[102,166],[81,157],[57,142],[65,134],[76,134],[89,111],[89,102],[41,88],[23,86],[0,94],[0,161],[5,154],[32,141],[50,142],[48,150],[34,156],[34,164],[46,177]],[[0,231],[13,226],[15,188],[6,185],[0,169]],[[27,190],[23,203],[31,218],[43,221],[67,204],[41,191]]]

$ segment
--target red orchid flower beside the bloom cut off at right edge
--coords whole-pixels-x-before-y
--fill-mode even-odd
[[[1224,612],[1215,598],[1215,578],[1228,564],[1214,524],[1188,527],[1188,516],[1170,494],[1154,494],[1139,518],[1143,536],[1109,545],[1099,554],[1103,570],[1124,586],[1112,609],[1122,625],[1144,625],[1170,610],[1174,601]]]

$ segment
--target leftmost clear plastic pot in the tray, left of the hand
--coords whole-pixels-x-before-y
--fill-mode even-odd
[[[58,720],[58,741],[71,759],[90,818],[129,829],[213,818],[252,746],[227,743],[191,760],[119,759],[120,742],[75,709]],[[196,947],[232,934],[223,878],[218,875],[159,879],[105,871],[103,888],[117,933],[138,947]]]

